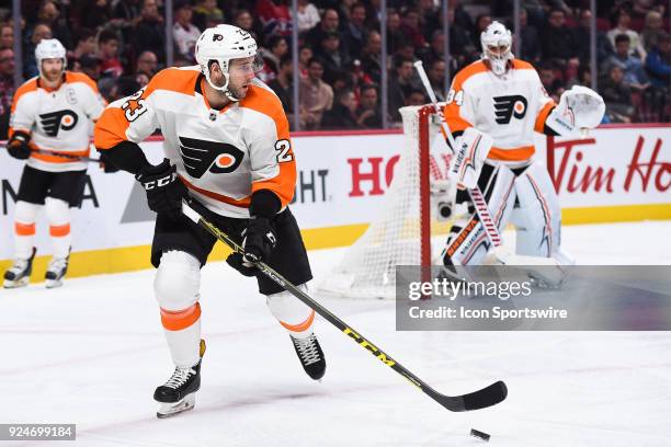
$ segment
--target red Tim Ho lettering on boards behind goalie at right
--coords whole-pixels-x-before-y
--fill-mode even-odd
[[[556,191],[568,193],[591,191],[613,194],[616,187],[622,186],[625,192],[640,188],[644,193],[648,190],[664,193],[671,187],[671,163],[659,160],[662,148],[661,138],[655,140],[652,153],[646,160],[642,154],[646,140],[642,136],[638,137],[632,159],[626,165],[624,181],[617,177],[615,168],[583,162],[583,152],[594,144],[594,138],[561,142],[556,142],[551,137],[548,138],[547,168]],[[560,156],[558,156],[559,149],[564,149]],[[607,150],[626,150],[626,148],[609,148]]]

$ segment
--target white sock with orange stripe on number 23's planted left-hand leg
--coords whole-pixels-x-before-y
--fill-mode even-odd
[[[190,367],[200,359],[201,263],[183,251],[168,251],[161,256],[153,291],[161,309],[166,340],[172,362]]]

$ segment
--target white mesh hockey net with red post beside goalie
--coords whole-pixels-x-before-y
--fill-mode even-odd
[[[379,218],[348,249],[319,289],[351,298],[395,296],[397,265],[431,265],[448,224],[440,219],[431,180],[444,179],[450,156],[432,105],[400,108],[405,145]]]

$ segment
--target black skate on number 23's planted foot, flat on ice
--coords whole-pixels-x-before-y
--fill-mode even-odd
[[[201,340],[201,359],[198,363],[191,368],[174,368],[172,377],[156,389],[153,400],[160,403],[156,413],[159,419],[174,416],[193,409],[195,392],[201,388],[201,363],[204,354],[205,341]]]

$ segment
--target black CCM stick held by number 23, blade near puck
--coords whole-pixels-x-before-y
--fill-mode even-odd
[[[214,224],[208,222],[203,218],[197,211],[191,208],[186,202],[182,203],[182,213],[191,220],[200,225],[209,231],[215,238],[219,241],[224,242],[231,250],[238,253],[243,253],[242,248],[234,241],[228,234],[218,229]],[[417,388],[422,390],[425,394],[429,394],[434,401],[443,405],[450,411],[470,411],[470,410],[479,410],[487,406],[496,405],[501,402],[508,396],[508,389],[505,388],[505,383],[502,381],[498,381],[496,383],[490,385],[487,388],[482,388],[481,390],[463,394],[463,396],[445,396],[435,391],[424,381],[422,381],[419,377],[410,373],[406,367],[401,364],[393,359],[388,356],[384,351],[379,347],[375,346],[368,340],[366,340],[359,331],[355,331],[350,325],[348,325],[340,318],[336,317],[331,311],[321,306],[319,302],[315,301],[309,295],[300,290],[298,287],[289,283],[282,275],[275,272],[272,267],[270,267],[264,262],[258,262],[257,267],[261,273],[268,276],[270,279],[275,282],[282,288],[287,290],[289,294],[298,298],[300,301],[312,308],[317,313],[319,313],[325,320],[329,323],[333,324],[340,331],[349,335],[352,340],[354,340],[360,346],[369,351],[375,357],[377,357],[385,365],[394,369],[396,373],[403,376],[410,383],[414,385]]]

